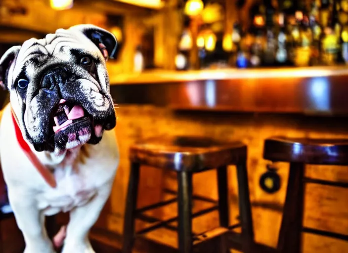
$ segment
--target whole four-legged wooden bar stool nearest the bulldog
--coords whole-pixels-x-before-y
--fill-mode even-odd
[[[247,177],[247,147],[241,142],[220,143],[205,137],[159,137],[135,144],[130,149],[131,175],[128,186],[126,216],[124,221],[123,253],[131,253],[133,241],[138,235],[160,227],[177,231],[180,253],[191,253],[193,249],[192,218],[218,209],[220,227],[226,232],[232,227],[242,227],[242,247],[251,252],[254,243],[254,231],[249,199]],[[177,173],[177,199],[160,202],[136,210],[139,168],[141,165],[159,169],[171,169]],[[229,226],[227,166],[237,167],[239,208],[241,224]],[[218,201],[213,209],[192,213],[192,175],[193,173],[217,169]],[[200,197],[202,200],[202,197]],[[205,200],[209,201],[208,198]],[[215,202],[214,200],[211,200]],[[154,225],[135,232],[136,218],[148,221],[143,212],[177,202],[178,216],[168,220],[157,220]],[[216,203],[216,202],[215,202]],[[169,223],[178,220],[178,227]],[[206,236],[203,236],[206,237]],[[200,238],[199,235],[195,239]],[[201,237],[202,238],[202,237]],[[199,240],[199,239],[198,239]],[[196,242],[195,242],[196,243]],[[227,249],[223,253],[226,253]]]

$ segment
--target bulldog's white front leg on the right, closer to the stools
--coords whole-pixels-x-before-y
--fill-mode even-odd
[[[86,205],[70,212],[62,253],[94,253],[88,239],[88,232],[97,221],[109,198],[111,187],[112,181],[104,184]]]

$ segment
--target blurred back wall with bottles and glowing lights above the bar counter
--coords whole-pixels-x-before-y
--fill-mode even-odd
[[[91,23],[119,40],[110,75],[348,60],[345,0],[1,0],[0,54]]]

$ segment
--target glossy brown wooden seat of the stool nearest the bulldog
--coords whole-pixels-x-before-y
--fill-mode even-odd
[[[131,146],[135,163],[176,171],[202,171],[246,159],[242,142],[219,142],[200,136],[161,136]]]

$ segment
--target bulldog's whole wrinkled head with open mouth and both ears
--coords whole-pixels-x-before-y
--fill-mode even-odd
[[[99,27],[58,29],[30,39],[0,59],[0,83],[23,136],[37,151],[96,144],[116,126],[105,62],[116,38]]]

